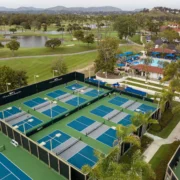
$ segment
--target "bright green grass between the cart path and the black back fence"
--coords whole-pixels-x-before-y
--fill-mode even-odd
[[[97,53],[86,53],[81,55],[65,56],[64,60],[67,63],[68,70],[74,71],[76,69],[84,68],[95,60]],[[41,57],[41,58],[24,58],[15,60],[0,61],[0,66],[6,65],[13,69],[25,70],[29,77],[28,83],[33,83],[35,74],[38,74],[39,81],[46,80],[52,77],[51,64],[58,57]]]

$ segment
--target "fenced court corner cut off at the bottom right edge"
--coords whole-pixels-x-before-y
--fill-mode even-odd
[[[180,146],[174,153],[173,157],[168,163],[165,180],[179,180],[180,179]]]

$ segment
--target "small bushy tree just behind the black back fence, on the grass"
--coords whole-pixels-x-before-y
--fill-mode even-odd
[[[63,58],[60,57],[59,59],[55,60],[52,63],[52,67],[51,67],[52,71],[56,71],[56,74],[58,76],[61,76],[63,74],[67,74],[68,72],[68,67],[66,65],[66,63],[64,62]]]

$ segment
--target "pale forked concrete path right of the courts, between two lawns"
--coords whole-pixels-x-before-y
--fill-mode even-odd
[[[149,133],[146,133],[145,135],[154,139],[152,144],[146,149],[146,151],[143,154],[145,157],[145,161],[149,162],[163,144],[171,144],[177,140],[180,141],[180,122],[177,124],[177,126],[174,128],[174,130],[166,139],[160,138],[158,136],[154,136]]]

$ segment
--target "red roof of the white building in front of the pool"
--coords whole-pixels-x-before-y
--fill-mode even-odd
[[[154,67],[154,66],[146,66],[143,64],[138,64],[136,66],[131,66],[132,69],[136,69],[139,71],[148,71],[151,73],[157,73],[157,74],[163,74],[163,69],[159,67]]]

